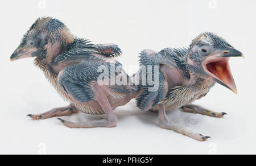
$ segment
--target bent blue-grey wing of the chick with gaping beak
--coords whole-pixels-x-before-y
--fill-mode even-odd
[[[189,72],[187,70],[187,48],[164,48],[159,53],[151,51],[151,50],[144,50],[140,54],[140,65],[141,65],[141,75],[143,72],[143,68],[151,66],[158,66],[158,90],[155,92],[150,92],[150,86],[147,85],[140,85],[142,89],[144,89],[143,93],[137,97],[137,106],[141,110],[148,110],[161,102],[167,96],[168,92],[168,82],[167,77],[172,77],[175,75],[170,74],[171,72],[175,72],[177,70],[183,73],[184,78],[189,78]],[[160,65],[166,65],[170,67],[168,71],[169,74],[166,74],[166,70],[161,70]],[[175,69],[175,70],[172,70]],[[145,69],[144,69],[145,70]],[[147,73],[146,69],[146,73]],[[142,84],[142,81],[139,81]],[[148,83],[148,82],[147,82]]]

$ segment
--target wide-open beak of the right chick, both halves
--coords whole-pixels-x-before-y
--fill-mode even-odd
[[[237,94],[237,87],[229,67],[230,57],[244,56],[242,52],[230,47],[228,51],[208,57],[204,61],[204,68],[214,82],[225,86]]]

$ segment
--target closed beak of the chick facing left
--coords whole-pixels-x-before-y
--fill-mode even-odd
[[[32,53],[35,51],[37,51],[36,48],[17,48],[13,55],[11,55],[10,61],[32,57]]]

